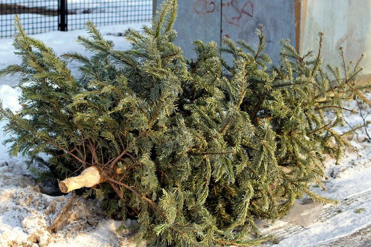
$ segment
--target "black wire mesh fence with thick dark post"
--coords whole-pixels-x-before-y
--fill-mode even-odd
[[[27,34],[84,29],[88,20],[96,26],[148,22],[152,0],[0,0],[0,38],[14,32],[18,14]]]

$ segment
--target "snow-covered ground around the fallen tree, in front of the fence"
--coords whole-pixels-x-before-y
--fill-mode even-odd
[[[131,25],[139,29],[141,24]],[[114,41],[116,48],[127,49],[129,44],[123,34],[123,25],[101,29],[106,39]],[[77,45],[78,35],[85,31],[51,32],[33,35],[53,47],[58,54],[84,49]],[[19,63],[13,55],[11,39],[0,40],[0,69]],[[70,69],[77,75],[77,64]],[[19,91],[16,78],[0,79],[0,98],[13,111],[19,109]],[[371,99],[371,94],[368,94]],[[354,102],[350,108],[364,116],[371,110],[359,108]],[[371,114],[370,114],[371,115]],[[368,116],[367,120],[371,120]],[[347,122],[363,122],[361,117],[348,117]],[[2,126],[3,124],[0,123]],[[371,133],[371,126],[368,127]],[[1,141],[4,139],[0,136]],[[339,201],[337,205],[325,205],[313,224],[300,227],[285,221],[275,224],[258,222],[263,234],[274,234],[275,239],[264,247],[371,247],[371,140],[366,132],[351,139],[351,144],[362,156],[348,150],[339,165],[327,157],[324,184],[327,188],[313,187],[315,192]],[[47,187],[38,184],[26,169],[22,158],[9,158],[6,147],[0,145],[0,247],[126,247],[133,246],[132,233],[116,234],[120,221],[109,219],[99,209],[98,202],[66,196],[46,195]],[[79,215],[84,215],[80,217]],[[64,222],[55,224],[56,219]],[[134,222],[128,220],[126,225]],[[278,243],[278,244],[277,244]]]

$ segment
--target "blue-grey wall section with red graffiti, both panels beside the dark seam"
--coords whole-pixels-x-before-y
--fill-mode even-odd
[[[157,0],[157,6],[161,0]],[[234,41],[242,39],[257,43],[255,34],[260,24],[265,27],[266,51],[278,59],[279,41],[290,39],[295,43],[294,0],[179,0],[176,44],[185,56],[195,56],[191,41],[216,41],[227,36]]]

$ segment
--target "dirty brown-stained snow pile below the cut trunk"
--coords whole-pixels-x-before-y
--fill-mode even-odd
[[[116,233],[122,222],[109,219],[99,202],[74,193],[48,196],[24,168],[22,162],[0,164],[0,247],[134,246],[129,231]]]

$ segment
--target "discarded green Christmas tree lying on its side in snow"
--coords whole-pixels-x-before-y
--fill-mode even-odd
[[[324,178],[323,154],[340,158],[343,137],[361,127],[335,130],[343,101],[370,104],[370,86],[355,83],[359,63],[344,61],[343,74],[322,68],[322,34],[318,53],[302,57],[282,41],[276,67],[262,30],[256,49],[195,41],[197,57],[186,60],[172,43],[176,12],[176,0],[164,1],[151,27],[127,31],[126,51],[88,23],[90,38],[78,42],[90,58],[58,57],[17,19],[22,63],[0,73],[20,73],[24,107],[0,108],[6,143],[11,155],[46,165],[40,175],[63,180],[62,192],[93,186],[86,194],[108,214],[138,219],[136,240],[148,246],[259,244],[255,218],[277,219],[305,194],[331,202],[308,185]],[[81,62],[80,78],[68,60]]]

